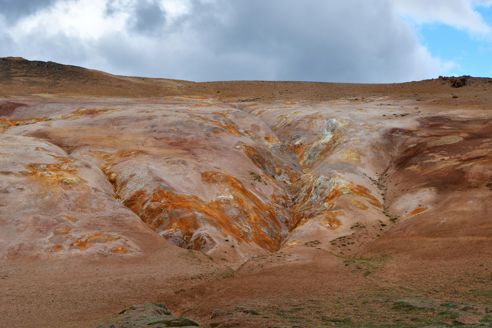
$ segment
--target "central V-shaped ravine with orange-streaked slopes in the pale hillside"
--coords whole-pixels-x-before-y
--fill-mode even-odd
[[[352,234],[351,211],[380,215],[358,147],[367,131],[312,110],[222,106],[151,116],[167,133],[150,145],[92,153],[121,203],[159,235],[235,268],[306,238]]]

